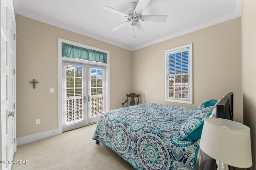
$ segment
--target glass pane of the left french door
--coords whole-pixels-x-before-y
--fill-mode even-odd
[[[83,119],[82,67],[66,66],[66,121]]]

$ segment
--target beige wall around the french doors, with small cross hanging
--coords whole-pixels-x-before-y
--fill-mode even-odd
[[[16,34],[17,137],[58,128],[58,37],[110,51],[110,109],[121,107],[132,90],[131,51],[20,15]]]

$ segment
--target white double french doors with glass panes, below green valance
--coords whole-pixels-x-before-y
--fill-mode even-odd
[[[103,66],[62,63],[62,129],[94,123],[105,111],[106,71]]]

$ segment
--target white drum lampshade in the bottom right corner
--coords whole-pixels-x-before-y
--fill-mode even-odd
[[[238,168],[252,166],[250,128],[220,118],[206,118],[200,148],[210,157]]]

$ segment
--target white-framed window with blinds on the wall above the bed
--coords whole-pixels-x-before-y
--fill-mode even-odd
[[[192,44],[164,51],[164,100],[192,104]]]

